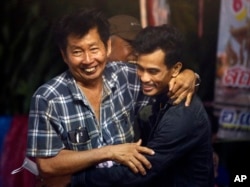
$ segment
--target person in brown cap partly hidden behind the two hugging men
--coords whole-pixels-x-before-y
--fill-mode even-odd
[[[136,61],[136,54],[131,46],[138,32],[142,29],[140,21],[129,15],[115,15],[109,18],[111,34],[111,54],[109,61]]]

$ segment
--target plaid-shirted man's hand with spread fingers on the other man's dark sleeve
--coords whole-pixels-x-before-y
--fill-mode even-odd
[[[143,154],[153,155],[154,151],[141,146],[141,140],[136,143],[126,143],[110,146],[112,160],[128,166],[134,173],[146,174],[145,167],[150,169],[151,163]]]

